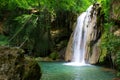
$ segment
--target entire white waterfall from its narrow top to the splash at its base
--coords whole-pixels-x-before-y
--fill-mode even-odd
[[[91,21],[90,15],[92,11],[92,5],[83,12],[77,19],[77,25],[74,30],[73,36],[73,57],[72,62],[65,65],[83,66],[87,65],[85,62],[85,47],[89,22]]]

